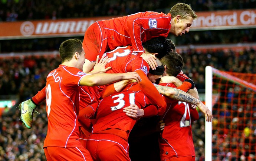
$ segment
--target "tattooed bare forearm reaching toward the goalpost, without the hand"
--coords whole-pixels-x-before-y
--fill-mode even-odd
[[[162,95],[168,96],[171,99],[187,102],[196,105],[196,103],[199,103],[200,100],[196,99],[195,97],[191,96],[190,94],[176,88],[166,87],[166,86],[160,86],[155,85],[158,92]]]

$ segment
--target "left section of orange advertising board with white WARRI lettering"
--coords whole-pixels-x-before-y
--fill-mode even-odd
[[[0,40],[83,36],[92,23],[110,18],[112,17],[3,22],[0,23]]]

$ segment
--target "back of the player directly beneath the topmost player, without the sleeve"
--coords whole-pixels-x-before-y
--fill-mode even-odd
[[[110,58],[108,64],[106,64],[106,68],[109,66],[112,67],[106,73],[135,72],[137,69],[142,69],[146,75],[148,73],[149,66],[147,62],[137,53],[133,52],[131,46],[117,47],[115,50],[106,52],[104,55]]]

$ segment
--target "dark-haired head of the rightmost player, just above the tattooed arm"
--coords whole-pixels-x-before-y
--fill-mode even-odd
[[[170,52],[160,60],[164,65],[163,76],[177,76],[184,66],[183,58],[177,52]]]

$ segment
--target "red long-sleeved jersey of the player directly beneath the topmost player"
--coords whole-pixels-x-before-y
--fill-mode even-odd
[[[142,79],[139,83],[142,92],[157,103],[157,106],[159,107],[159,114],[163,114],[166,104],[159,95],[158,90],[147,78],[147,74],[149,72],[148,63],[137,53],[133,52],[133,48],[131,46],[117,47],[111,52],[106,52],[105,55],[110,58],[108,64],[106,64],[106,68],[108,66],[112,67],[112,69],[106,73],[139,73]]]

